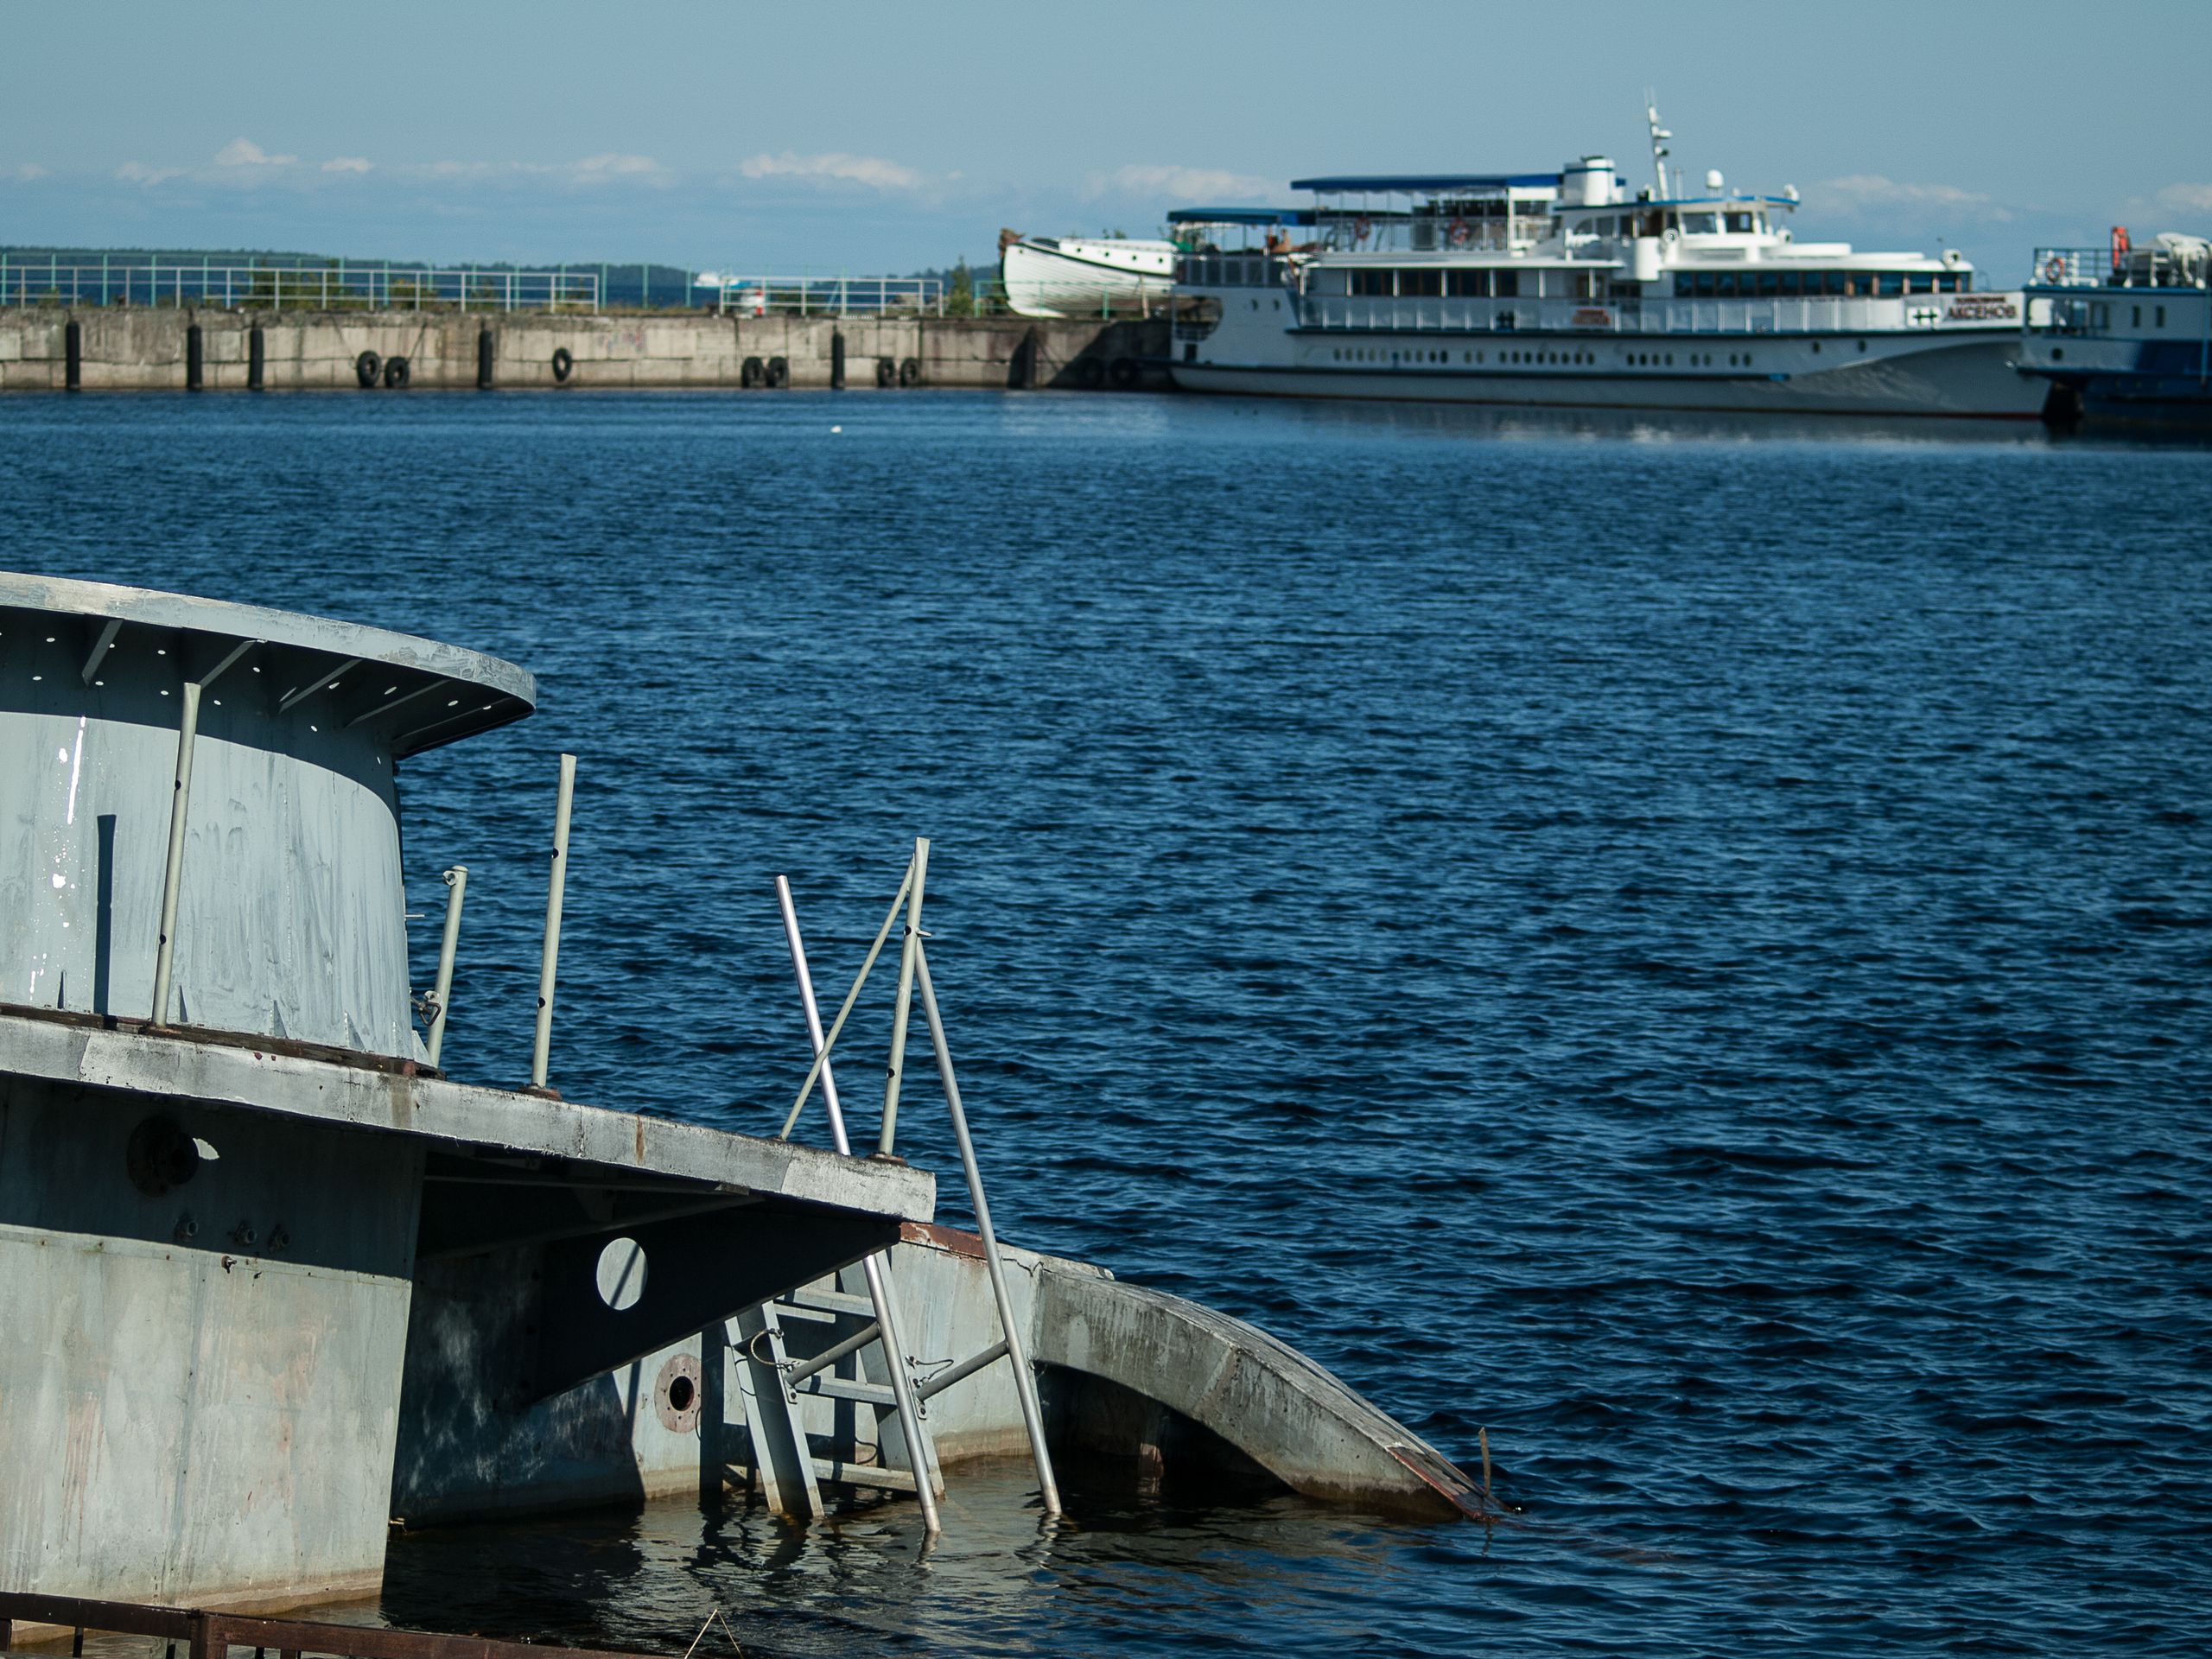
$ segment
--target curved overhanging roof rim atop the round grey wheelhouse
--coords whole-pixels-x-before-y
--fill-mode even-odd
[[[276,712],[314,703],[345,726],[374,730],[394,759],[507,726],[538,703],[538,681],[522,668],[436,639],[188,593],[0,571],[0,655],[9,633],[51,630],[58,617],[80,633],[86,688],[139,650],[170,655],[164,672],[201,684],[252,664],[263,668]]]

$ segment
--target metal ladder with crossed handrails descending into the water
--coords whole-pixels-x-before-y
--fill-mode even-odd
[[[933,1394],[962,1383],[978,1371],[1006,1360],[1013,1369],[1013,1389],[1022,1407],[1022,1427],[1029,1431],[1029,1449],[1037,1469],[1037,1489],[1046,1515],[1060,1515],[1060,1484],[1053,1478],[1051,1451],[1044,1444],[1044,1411],[1037,1402],[1037,1380],[1029,1367],[1022,1345],[1020,1323],[1006,1292],[1006,1265],[998,1250],[998,1234],[991,1228],[991,1206],[984,1199],[982,1172],[975,1166],[975,1141],[969,1135],[967,1110],[960,1104],[960,1082],[953,1075],[951,1048],[945,1042],[945,1018],[938,1011],[936,987],[929,980],[929,958],[922,949],[922,885],[929,876],[929,841],[914,843],[914,860],[891,898],[891,909],[876,929],[876,942],[854,975],[852,991],[838,1009],[827,1035],[821,1024],[821,1009],[814,1002],[814,975],[807,971],[805,942],[799,936],[799,911],[792,905],[792,885],[776,876],[776,902],[783,909],[783,936],[792,949],[792,971],[799,978],[799,1000],[807,1018],[807,1040],[814,1048],[814,1064],[790,1117],[783,1121],[781,1139],[790,1139],[799,1115],[814,1091],[816,1079],[823,1091],[823,1108],[830,1115],[830,1137],[838,1152],[852,1155],[845,1135],[845,1110],[836,1091],[836,1073],[830,1068],[830,1048],[836,1044],[845,1020],[867,982],[876,958],[883,953],[905,907],[907,925],[898,956],[898,1002],[891,1011],[891,1064],[883,1088],[883,1139],[878,1157],[894,1157],[898,1135],[898,1095],[905,1077],[907,1026],[914,1006],[914,991],[922,993],[922,1018],[929,1026],[931,1048],[938,1062],[938,1082],[945,1088],[945,1106],[951,1115],[953,1139],[960,1146],[960,1170],[967,1179],[975,1208],[975,1230],[982,1234],[984,1267],[991,1274],[991,1301],[998,1312],[1000,1340],[978,1354],[951,1365],[927,1380],[916,1376],[914,1356],[900,1340],[898,1310],[891,1294],[889,1252],[878,1252],[860,1263],[858,1285],[854,1270],[845,1270],[838,1285],[816,1281],[783,1296],[750,1307],[737,1318],[739,1336],[739,1394],[745,1407],[745,1427],[752,1436],[752,1464],[761,1475],[761,1489],[770,1509],[812,1520],[827,1513],[823,1486],[876,1486],[883,1491],[911,1491],[922,1509],[922,1524],[929,1533],[942,1531],[938,1498],[945,1493],[945,1475],[938,1467],[936,1442],[929,1436],[927,1400]],[[865,1294],[856,1294],[865,1285]],[[807,1358],[790,1352],[787,1321],[863,1321],[858,1329],[836,1336]],[[865,1356],[874,1349],[876,1369],[883,1380],[865,1376],[841,1376],[847,1358],[865,1367]],[[852,1407],[867,1407],[876,1413],[876,1462],[852,1458],[816,1455],[801,1420],[801,1400],[832,1398]],[[898,1442],[894,1447],[891,1433]],[[852,1436],[854,1444],[858,1436]],[[891,1458],[905,1462],[896,1464]]]

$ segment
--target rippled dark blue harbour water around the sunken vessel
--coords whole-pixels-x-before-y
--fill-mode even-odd
[[[1042,1537],[1000,1473],[922,1562],[898,1509],[657,1504],[407,1540],[392,1617],[2212,1646],[2212,456],[1139,396],[24,398],[0,500],[18,566],[540,675],[538,717],[403,779],[425,975],[436,872],[473,872],[460,1075],[526,1071],[557,750],[571,1097],[774,1130],[770,878],[834,993],[929,834],[1000,1228],[1259,1321],[1451,1455],[1486,1425],[1526,1511]],[[951,1168],[927,1097],[902,1121]]]

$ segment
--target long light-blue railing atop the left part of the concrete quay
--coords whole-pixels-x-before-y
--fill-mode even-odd
[[[0,252],[0,305],[192,305],[268,312],[597,312],[599,268],[385,265],[343,261],[219,265],[212,259],[100,261]]]

